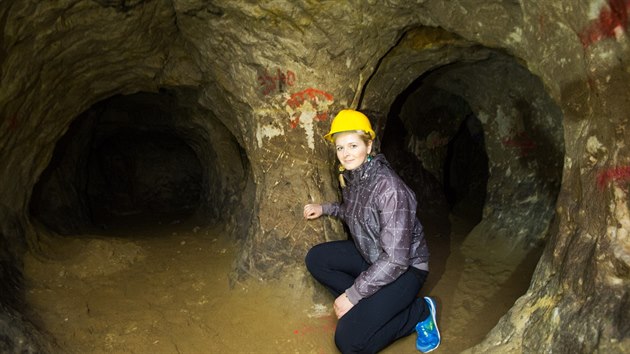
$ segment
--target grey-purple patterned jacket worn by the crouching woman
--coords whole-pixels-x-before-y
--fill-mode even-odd
[[[409,266],[429,270],[429,250],[416,218],[416,196],[379,154],[344,171],[343,203],[322,204],[323,213],[342,219],[354,244],[370,263],[346,290],[351,303],[393,282]]]

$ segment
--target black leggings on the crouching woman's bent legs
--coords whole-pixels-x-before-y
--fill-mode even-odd
[[[326,242],[306,255],[306,267],[335,298],[370,266],[352,241]],[[409,268],[392,283],[359,301],[337,323],[335,344],[342,353],[376,353],[414,332],[429,316],[424,301],[416,301],[429,273]]]

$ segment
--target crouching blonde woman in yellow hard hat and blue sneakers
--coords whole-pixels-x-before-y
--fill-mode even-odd
[[[336,297],[335,344],[342,353],[375,353],[416,329],[416,347],[440,344],[435,302],[417,295],[429,252],[416,218],[416,198],[383,155],[372,157],[375,134],[355,110],[335,116],[325,138],[341,163],[342,203],[307,204],[304,217],[342,219],[352,240],[314,246],[309,272]]]

